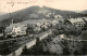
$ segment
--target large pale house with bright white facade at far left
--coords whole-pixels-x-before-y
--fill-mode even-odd
[[[4,29],[5,36],[16,37],[26,34],[27,27],[21,24],[11,24],[9,27]]]

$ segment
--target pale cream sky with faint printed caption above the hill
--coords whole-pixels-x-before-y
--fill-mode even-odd
[[[45,5],[66,11],[84,11],[87,10],[86,4],[87,0],[0,0],[0,12],[15,12],[32,5],[39,5],[40,8]]]

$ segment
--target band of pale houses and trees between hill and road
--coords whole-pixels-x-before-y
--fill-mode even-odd
[[[51,13],[48,13],[50,16]],[[1,36],[7,39],[8,37],[22,37],[26,34],[41,33],[42,31],[49,29],[59,30],[59,32],[74,34],[80,33],[82,30],[86,30],[87,18],[86,17],[76,17],[64,19],[61,15],[54,15],[54,17],[47,19],[28,19],[21,23],[14,24],[12,19],[10,25],[3,27]],[[46,15],[47,16],[47,15]],[[75,33],[75,34],[76,34]]]

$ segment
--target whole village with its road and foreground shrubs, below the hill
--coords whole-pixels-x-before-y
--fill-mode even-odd
[[[1,26],[1,55],[86,54],[87,17],[69,15],[65,18],[44,10],[38,13],[44,14],[44,18],[32,13],[29,17],[25,16],[26,20],[15,23],[11,17],[7,25]]]

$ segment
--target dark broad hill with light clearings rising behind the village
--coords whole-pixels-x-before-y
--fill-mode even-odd
[[[85,15],[85,14],[75,13],[75,12],[71,12],[71,11],[55,10],[55,9],[51,9],[51,8],[47,8],[47,6],[44,6],[44,8],[29,6],[27,9],[0,16],[0,25],[5,25],[5,24],[9,25],[11,19],[14,19],[14,23],[20,23],[20,22],[24,22],[27,19],[48,18],[48,17],[46,17],[47,13],[59,14],[59,15],[62,15],[64,18],[69,18],[70,15],[71,15],[71,17],[78,17],[78,16],[87,15],[87,14]],[[53,15],[51,15],[50,17],[53,18]]]

